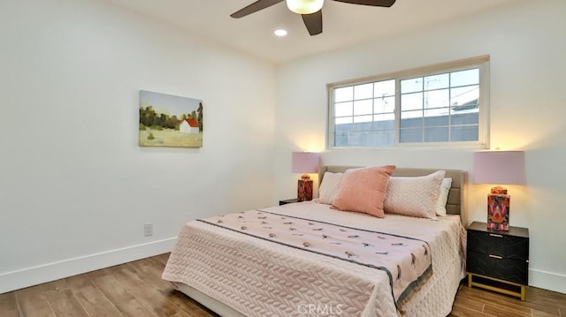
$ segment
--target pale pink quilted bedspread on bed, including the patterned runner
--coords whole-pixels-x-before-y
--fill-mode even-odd
[[[404,299],[415,298],[407,303],[411,315],[414,302],[424,298],[418,290],[435,265],[436,251],[447,249],[454,253],[450,250],[455,238],[440,241],[446,240],[439,240],[446,230],[423,229],[424,220],[410,220],[407,224],[398,222],[403,218],[400,216],[378,220],[317,204],[309,204],[305,210],[302,209],[307,204],[286,206],[187,223],[164,270],[164,279],[186,283],[249,316],[394,316],[405,313]],[[254,222],[251,218],[255,218]],[[274,230],[276,222],[284,224],[283,229]],[[425,223],[439,227],[432,221]],[[402,230],[390,231],[396,226]],[[413,237],[398,237],[410,236],[416,230],[419,234]],[[284,236],[291,240],[271,241]],[[388,242],[387,250],[381,249],[387,244],[380,243],[381,240]],[[321,241],[324,243],[319,246]],[[341,249],[327,250],[325,244],[331,243],[340,243]],[[411,250],[404,257],[407,264],[397,267],[399,260],[380,264],[373,261],[373,254],[394,253],[401,246],[395,244],[406,244]],[[442,246],[446,244],[453,246]],[[458,251],[455,253],[457,257]],[[438,256],[446,255],[439,252]],[[448,260],[454,262],[455,258]],[[460,262],[455,264],[459,271]],[[418,269],[409,273],[411,266]],[[440,269],[441,273],[444,271],[445,268]],[[403,286],[395,286],[398,280]],[[435,281],[439,283],[438,278]],[[440,286],[452,292],[451,284]],[[451,303],[449,298],[448,301]],[[440,309],[446,310],[446,306],[440,300]]]

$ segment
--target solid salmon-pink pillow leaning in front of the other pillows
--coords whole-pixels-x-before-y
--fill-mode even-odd
[[[333,208],[383,218],[383,200],[394,165],[371,166],[344,172]]]

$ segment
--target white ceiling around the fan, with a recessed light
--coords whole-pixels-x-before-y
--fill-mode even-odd
[[[302,18],[285,2],[241,19],[230,18],[255,0],[104,0],[187,33],[272,63],[410,32],[444,20],[492,10],[518,0],[397,0],[391,8],[326,0],[323,33],[310,36]],[[273,34],[286,28],[286,37]]]

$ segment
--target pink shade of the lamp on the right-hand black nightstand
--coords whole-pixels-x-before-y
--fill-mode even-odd
[[[474,153],[474,183],[524,185],[523,151],[485,151]]]

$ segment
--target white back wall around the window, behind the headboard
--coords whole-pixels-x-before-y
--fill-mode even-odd
[[[491,56],[491,146],[526,151],[526,186],[509,186],[510,222],[531,237],[529,283],[566,293],[566,2],[521,1],[409,34],[282,64],[278,69],[275,191],[295,196],[290,153],[325,147],[327,83]],[[472,149],[325,151],[326,164],[462,169]],[[469,220],[486,221],[489,185],[470,184]]]

